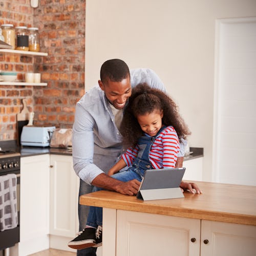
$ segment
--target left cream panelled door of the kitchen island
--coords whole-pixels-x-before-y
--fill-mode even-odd
[[[200,220],[117,210],[116,240],[117,256],[198,256]]]

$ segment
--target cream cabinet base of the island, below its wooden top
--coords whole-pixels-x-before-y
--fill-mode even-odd
[[[256,251],[256,226],[250,225],[103,208],[103,230],[103,256],[253,256]]]

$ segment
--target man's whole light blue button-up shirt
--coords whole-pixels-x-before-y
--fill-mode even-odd
[[[150,69],[131,70],[131,86],[146,82],[165,92],[163,82]],[[95,86],[76,104],[73,125],[73,163],[80,179],[88,184],[116,163],[123,153],[110,103],[99,86]],[[182,147],[182,145],[181,145]],[[184,156],[183,147],[179,156]]]

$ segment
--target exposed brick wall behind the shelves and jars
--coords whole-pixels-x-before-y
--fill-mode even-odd
[[[33,8],[29,0],[0,1],[0,25],[30,26],[33,24]],[[33,71],[33,58],[16,54],[0,53],[0,70],[16,71],[19,78],[24,72]],[[22,110],[22,99],[33,110],[33,88],[0,86],[0,140],[16,139],[16,114]]]

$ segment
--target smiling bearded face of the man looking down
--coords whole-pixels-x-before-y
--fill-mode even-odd
[[[120,82],[113,82],[108,79],[103,83],[101,80],[99,80],[98,83],[109,102],[116,109],[123,109],[127,99],[129,99],[132,94],[130,78],[127,77]]]

